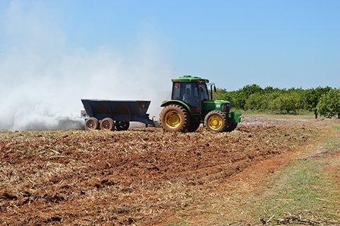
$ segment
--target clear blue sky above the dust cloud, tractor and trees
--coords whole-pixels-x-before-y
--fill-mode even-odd
[[[42,40],[46,48],[60,48],[60,42],[64,52],[107,47],[124,55],[128,65],[135,62],[128,58],[136,57],[135,50],[148,40],[157,51],[155,57],[169,64],[173,77],[202,76],[228,90],[247,84],[340,86],[340,1],[336,0],[1,0],[0,13],[8,15],[11,4],[49,21],[47,31],[62,37],[55,46]],[[2,23],[0,50],[6,56],[8,47],[20,46],[29,31],[13,33],[4,27]],[[38,31],[44,29],[42,24]],[[160,72],[151,73],[157,77]]]

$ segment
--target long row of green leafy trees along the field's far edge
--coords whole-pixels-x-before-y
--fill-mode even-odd
[[[317,111],[328,118],[340,118],[340,89],[329,86],[312,89],[261,88],[257,84],[246,85],[237,91],[217,89],[215,99],[232,103],[233,108],[273,113],[296,114],[299,110]]]

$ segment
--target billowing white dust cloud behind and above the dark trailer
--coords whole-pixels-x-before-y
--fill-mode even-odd
[[[129,53],[69,47],[46,11],[13,1],[0,16],[0,130],[83,128],[81,98],[150,100],[158,118],[173,74],[152,35]]]

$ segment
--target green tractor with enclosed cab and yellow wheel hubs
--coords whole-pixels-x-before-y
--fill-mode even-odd
[[[208,79],[184,75],[172,82],[171,100],[161,105],[164,108],[159,119],[164,130],[194,132],[203,123],[211,132],[231,132],[241,121],[240,113],[230,112],[229,101],[212,99],[216,87]]]

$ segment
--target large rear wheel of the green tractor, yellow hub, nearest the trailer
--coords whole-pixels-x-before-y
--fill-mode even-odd
[[[186,108],[175,104],[166,106],[159,118],[163,130],[168,132],[186,132],[190,125],[190,116]]]

